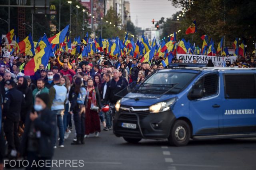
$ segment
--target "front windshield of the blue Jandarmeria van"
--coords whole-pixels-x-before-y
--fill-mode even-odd
[[[147,93],[157,93],[156,91],[168,91],[169,94],[177,94],[194,79],[196,73],[184,72],[158,72],[146,79],[137,89],[137,93],[142,92],[145,87],[149,87]],[[143,92],[142,92],[143,93]]]

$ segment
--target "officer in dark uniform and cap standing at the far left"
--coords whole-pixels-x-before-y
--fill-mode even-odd
[[[4,132],[8,142],[8,157],[13,159],[17,156],[17,150],[20,147],[20,138],[18,136],[18,126],[20,121],[20,111],[24,105],[22,92],[15,89],[16,83],[13,80],[7,80],[4,85],[6,91],[4,97]]]

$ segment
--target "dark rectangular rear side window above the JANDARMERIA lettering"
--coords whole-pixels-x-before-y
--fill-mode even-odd
[[[256,98],[254,74],[225,74],[226,99]]]

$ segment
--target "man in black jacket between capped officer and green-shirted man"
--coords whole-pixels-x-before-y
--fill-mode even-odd
[[[20,126],[25,123],[26,120],[26,115],[30,113],[33,105],[33,95],[32,95],[32,90],[28,87],[28,82],[27,79],[24,77],[20,77],[18,79],[18,87],[17,89],[22,92],[25,105],[22,105],[21,112],[20,112],[20,117],[21,117],[21,123]]]

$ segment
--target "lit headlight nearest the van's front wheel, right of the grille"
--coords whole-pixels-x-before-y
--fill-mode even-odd
[[[174,105],[175,101],[176,101],[176,98],[172,98],[168,101],[156,103],[149,107],[149,112],[150,113],[159,113],[159,112],[168,111],[168,110],[170,110],[170,107],[172,107]]]

